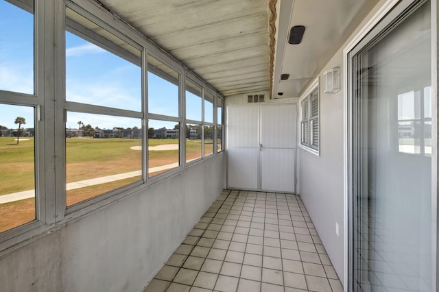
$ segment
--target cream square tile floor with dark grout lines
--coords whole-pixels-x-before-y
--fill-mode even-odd
[[[343,289],[298,195],[224,190],[145,291]]]

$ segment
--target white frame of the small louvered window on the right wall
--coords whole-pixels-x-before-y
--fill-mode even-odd
[[[312,97],[312,94],[316,92],[317,96]],[[318,103],[317,115],[311,116],[311,99],[316,98]],[[307,102],[307,113],[308,116],[305,117],[305,113],[303,112],[303,106]],[[313,147],[313,123],[317,121],[317,137],[318,143],[315,147]],[[304,125],[308,126],[308,132],[305,132]],[[299,147],[305,149],[312,154],[319,156],[320,152],[320,86],[319,86],[319,78],[317,77],[305,90],[302,96],[299,99],[299,127],[298,127],[298,141]],[[305,142],[305,135],[308,134],[308,142]]]

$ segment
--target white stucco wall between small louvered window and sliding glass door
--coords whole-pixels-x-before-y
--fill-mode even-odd
[[[320,78],[320,152],[319,156],[299,148],[298,182],[300,197],[313,221],[320,239],[327,250],[337,275],[344,283],[344,90],[343,50],[359,34],[386,0],[378,1],[360,25],[329,62],[318,73]],[[323,74],[328,69],[340,67],[340,88],[335,94],[323,93]],[[335,233],[339,226],[339,236]]]

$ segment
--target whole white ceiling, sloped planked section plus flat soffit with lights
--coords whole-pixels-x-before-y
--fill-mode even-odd
[[[268,1],[100,0],[224,96],[270,88]],[[298,97],[377,0],[277,2],[273,97]],[[287,44],[293,25],[300,45]]]

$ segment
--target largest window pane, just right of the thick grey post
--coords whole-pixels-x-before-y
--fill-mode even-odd
[[[66,10],[66,206],[142,178],[141,51]]]

